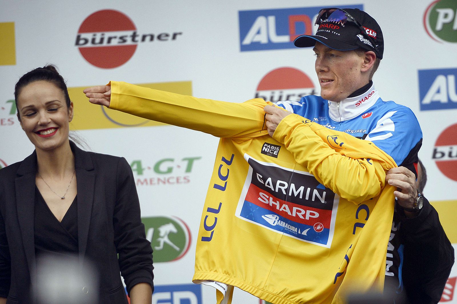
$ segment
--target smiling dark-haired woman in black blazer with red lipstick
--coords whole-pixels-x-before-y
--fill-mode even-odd
[[[43,283],[44,257],[74,255],[99,286],[74,286],[81,301],[127,303],[121,272],[131,303],[151,303],[152,248],[128,162],[69,141],[73,103],[54,66],[23,75],[15,100],[35,151],[0,170],[0,304],[39,302],[31,290]]]

